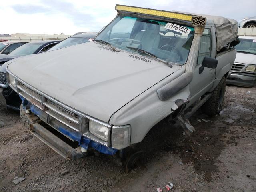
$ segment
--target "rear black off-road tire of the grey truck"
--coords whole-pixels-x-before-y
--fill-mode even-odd
[[[222,77],[218,86],[213,90],[212,96],[202,105],[202,112],[208,116],[219,114],[224,104],[226,91],[226,78]]]

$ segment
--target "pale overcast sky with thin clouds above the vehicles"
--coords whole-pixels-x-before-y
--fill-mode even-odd
[[[256,0],[5,0],[0,34],[74,34],[98,31],[115,16],[115,4],[224,16],[256,16]]]

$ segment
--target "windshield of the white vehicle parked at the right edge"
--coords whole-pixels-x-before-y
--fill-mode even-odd
[[[256,54],[256,40],[254,39],[240,39],[240,43],[235,46],[237,52],[247,54]]]

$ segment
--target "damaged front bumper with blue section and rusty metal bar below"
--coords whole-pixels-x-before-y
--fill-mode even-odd
[[[86,156],[93,149],[109,155],[117,152],[117,149],[104,146],[70,129],[24,98],[22,101],[30,122],[31,133],[62,157],[75,160]],[[81,148],[86,152],[82,152]]]

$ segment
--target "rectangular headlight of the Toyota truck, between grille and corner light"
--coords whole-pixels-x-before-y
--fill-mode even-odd
[[[108,141],[110,136],[110,127],[104,126],[92,120],[89,121],[89,131],[104,141]]]

